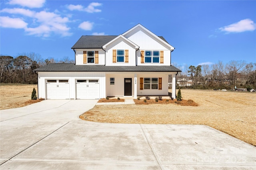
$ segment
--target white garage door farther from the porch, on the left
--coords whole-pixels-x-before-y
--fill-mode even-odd
[[[68,80],[47,80],[47,99],[69,99]]]

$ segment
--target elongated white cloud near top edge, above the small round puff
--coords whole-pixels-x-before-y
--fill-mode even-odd
[[[84,8],[84,6],[82,6],[82,5],[72,5],[72,4],[68,5],[67,8],[71,11],[78,10],[78,11],[85,11],[88,13],[94,13],[94,12],[101,12],[101,10],[95,8],[95,7],[101,6],[101,5],[102,4],[100,4],[98,2],[92,2],[86,8]]]

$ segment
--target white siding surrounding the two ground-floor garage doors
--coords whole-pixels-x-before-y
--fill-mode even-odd
[[[90,82],[88,80],[98,80],[98,85],[94,85],[93,89],[94,94],[95,88],[99,88],[98,95],[95,99],[98,98],[106,98],[106,78],[105,72],[38,72],[38,98],[47,99],[47,80],[68,80],[68,89],[66,91],[69,92],[67,99],[77,99],[77,80],[87,80],[88,84]],[[86,85],[88,85],[86,84]],[[92,83],[97,84],[97,82]],[[56,84],[54,84],[55,86]],[[98,86],[98,87],[97,87]],[[60,87],[60,86],[59,86]],[[86,86],[87,87],[87,86]],[[92,86],[88,86],[91,88]],[[67,88],[67,87],[66,87]]]

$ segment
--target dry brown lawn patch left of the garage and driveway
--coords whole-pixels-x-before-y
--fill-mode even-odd
[[[37,85],[4,85],[0,86],[0,110],[27,106],[40,100],[31,100],[33,88]]]

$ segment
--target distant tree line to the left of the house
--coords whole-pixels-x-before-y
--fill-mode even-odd
[[[74,63],[68,57],[61,60],[48,58],[43,60],[41,55],[34,52],[24,53],[18,57],[0,55],[0,82],[37,84],[37,75],[32,70],[49,63]]]

